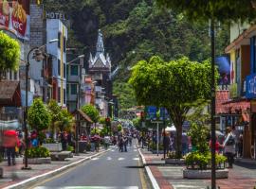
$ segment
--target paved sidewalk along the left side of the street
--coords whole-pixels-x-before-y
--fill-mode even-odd
[[[74,156],[73,158],[67,158],[65,159],[65,161],[51,161],[51,163],[44,163],[44,164],[28,164],[28,166],[31,167],[31,170],[21,169],[24,165],[23,158],[17,158],[16,165],[14,166],[8,166],[6,161],[2,162],[0,163],[0,167],[4,168],[4,177],[0,179],[0,188],[5,188],[12,184],[21,183],[24,180],[36,178],[38,176],[42,176],[43,174],[47,175],[47,173],[49,173],[49,175],[44,177],[44,179],[46,179],[47,177],[50,178],[54,174],[57,174],[58,169],[60,170],[61,168],[68,169],[69,168],[68,165],[70,165],[70,167],[75,166],[76,163],[82,163],[94,156],[100,155],[105,151],[106,150],[101,149],[100,152],[98,153],[97,152],[80,153],[79,156]],[[64,171],[64,169],[62,171]],[[35,181],[39,181],[39,180],[40,179],[37,179]],[[32,183],[33,179],[30,180],[30,182]],[[18,186],[17,188],[22,188],[22,187],[27,188],[27,185],[25,184],[23,186]]]

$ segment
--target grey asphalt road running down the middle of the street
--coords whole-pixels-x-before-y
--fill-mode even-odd
[[[148,188],[145,183],[137,147],[133,145],[128,146],[128,152],[119,152],[114,147],[35,188],[144,189]]]

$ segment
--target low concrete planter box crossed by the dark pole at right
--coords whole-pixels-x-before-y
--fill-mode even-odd
[[[211,170],[183,169],[183,178],[186,179],[210,179]],[[229,169],[217,169],[216,179],[228,179]]]

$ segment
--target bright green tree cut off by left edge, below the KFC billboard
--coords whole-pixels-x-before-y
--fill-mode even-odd
[[[0,80],[7,70],[19,68],[20,44],[0,31]]]

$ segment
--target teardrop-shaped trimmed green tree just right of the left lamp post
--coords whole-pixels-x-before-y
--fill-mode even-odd
[[[29,126],[37,131],[48,129],[51,115],[41,98],[34,99],[32,106],[28,110],[27,121]]]

